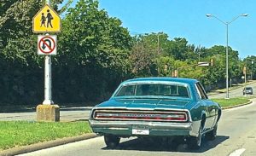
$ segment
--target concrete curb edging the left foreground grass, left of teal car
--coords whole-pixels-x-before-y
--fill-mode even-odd
[[[73,136],[73,137],[57,139],[55,141],[39,142],[32,145],[24,146],[24,147],[14,147],[14,148],[10,148],[0,152],[0,156],[13,156],[13,155],[22,154],[22,153],[31,153],[33,151],[38,151],[38,150],[49,148],[49,147],[56,147],[56,146],[64,145],[71,142],[79,142],[79,141],[87,140],[94,137],[96,137],[96,134],[90,133],[82,136]]]

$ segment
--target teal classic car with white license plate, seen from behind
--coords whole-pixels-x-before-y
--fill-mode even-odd
[[[182,137],[189,147],[200,148],[203,135],[215,139],[220,116],[221,107],[195,79],[135,78],[94,107],[89,122],[110,148],[130,136]]]

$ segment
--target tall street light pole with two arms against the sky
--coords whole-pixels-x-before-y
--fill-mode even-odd
[[[229,25],[239,17],[241,16],[246,17],[247,15],[248,14],[239,14],[233,20],[225,22],[223,20],[218,19],[218,17],[215,15],[207,14],[207,17],[213,17],[226,26],[226,39],[227,39],[226,41],[226,99],[230,99],[230,95],[229,95]]]

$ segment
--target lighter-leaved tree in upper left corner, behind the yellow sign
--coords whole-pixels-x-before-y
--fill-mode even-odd
[[[41,0],[1,0],[0,42],[7,59],[28,65],[40,61],[36,55],[37,38],[32,33],[32,18],[44,6]],[[53,8],[62,0],[53,0]],[[33,62],[34,63],[34,62]]]

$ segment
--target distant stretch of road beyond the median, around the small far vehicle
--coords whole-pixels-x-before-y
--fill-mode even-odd
[[[255,93],[256,93],[256,83],[253,82],[253,84],[247,84],[247,87],[253,87],[253,94],[255,95]],[[245,95],[242,95],[242,89],[243,89],[243,87],[238,88],[236,90],[230,90],[229,91],[230,98],[245,96]],[[246,95],[246,96],[252,96],[252,95]],[[225,97],[226,97],[226,92],[216,94],[216,95],[209,95],[209,98],[225,98]]]

